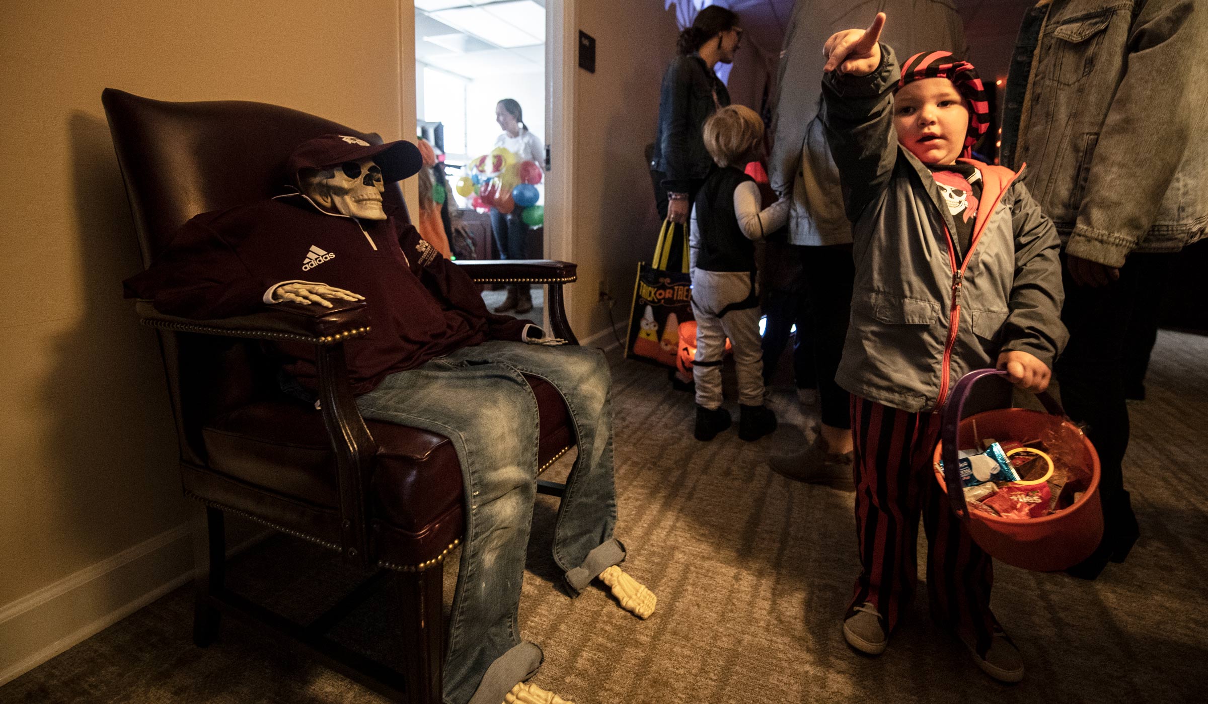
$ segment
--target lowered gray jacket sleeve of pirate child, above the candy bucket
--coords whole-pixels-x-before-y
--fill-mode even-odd
[[[1069,333],[1061,321],[1065,290],[1061,278],[1061,238],[1027,186],[1016,181],[1007,198],[1015,232],[1015,281],[1003,326],[1001,351],[1026,351],[1051,370]]]

